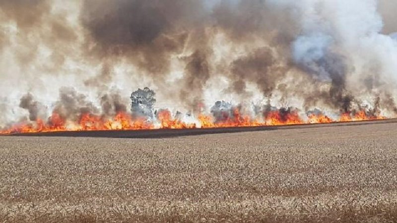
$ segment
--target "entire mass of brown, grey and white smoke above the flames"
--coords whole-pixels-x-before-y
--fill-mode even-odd
[[[1,1],[0,108],[30,120],[114,115],[148,86],[156,106],[179,111],[226,100],[396,115],[396,9],[388,0]]]

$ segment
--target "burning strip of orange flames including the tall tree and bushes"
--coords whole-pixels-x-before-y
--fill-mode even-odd
[[[29,97],[32,97],[29,95]],[[61,94],[61,98],[63,95]],[[26,97],[22,98],[24,100]],[[30,100],[33,100],[32,98]],[[280,108],[266,104],[256,112],[246,112],[241,105],[233,106],[225,101],[218,101],[212,106],[209,113],[203,111],[192,114],[177,111],[173,114],[168,109],[155,110],[155,93],[149,88],[138,89],[131,96],[131,112],[115,111],[95,113],[96,109],[88,111],[87,108],[71,108],[76,113],[62,111],[56,106],[47,119],[35,115],[38,102],[33,102],[33,108],[26,108],[34,117],[11,124],[0,131],[0,134],[55,132],[55,131],[93,131],[93,130],[140,130],[140,129],[188,129],[188,128],[222,128],[222,127],[248,127],[248,126],[274,126],[317,124],[347,121],[362,121],[385,119],[385,116],[370,113],[370,111],[350,111],[340,113],[333,119],[319,110],[306,113],[293,108]],[[70,103],[70,101],[68,100]],[[73,103],[72,103],[73,104]],[[120,107],[119,106],[111,106]],[[32,113],[35,112],[35,113]],[[111,115],[114,113],[114,115]]]

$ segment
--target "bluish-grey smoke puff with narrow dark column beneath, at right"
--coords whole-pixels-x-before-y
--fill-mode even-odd
[[[346,58],[331,52],[331,36],[316,34],[301,36],[294,43],[293,56],[297,66],[319,82],[330,82],[329,91],[321,91],[305,98],[305,104],[323,101],[333,109],[350,111],[354,100],[346,89]]]

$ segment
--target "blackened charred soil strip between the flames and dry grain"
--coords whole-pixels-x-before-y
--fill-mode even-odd
[[[205,134],[221,134],[235,132],[255,132],[296,128],[318,128],[332,126],[356,126],[367,124],[397,123],[397,118],[367,121],[335,122],[327,124],[297,124],[282,126],[226,127],[226,128],[195,128],[195,129],[150,129],[150,130],[108,130],[108,131],[60,131],[38,133],[16,133],[8,136],[50,136],[50,137],[97,137],[97,138],[172,138]]]

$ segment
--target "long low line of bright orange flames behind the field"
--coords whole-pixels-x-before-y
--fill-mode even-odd
[[[199,114],[196,123],[187,123],[180,118],[173,117],[168,110],[157,112],[157,120],[150,121],[145,118],[132,118],[127,112],[119,112],[114,117],[104,117],[84,113],[77,121],[65,120],[60,114],[54,112],[48,121],[37,119],[31,123],[18,123],[0,131],[0,134],[55,132],[55,131],[93,131],[93,130],[139,130],[139,129],[187,129],[187,128],[222,128],[244,126],[274,126],[291,124],[315,124],[345,121],[362,121],[385,119],[383,116],[367,115],[366,111],[342,113],[338,120],[333,120],[324,114],[310,114],[307,120],[301,118],[296,111],[278,110],[270,111],[261,119],[253,119],[243,115],[238,109],[232,115],[226,115],[222,121],[215,121],[211,115]]]

